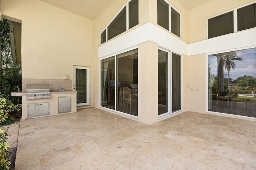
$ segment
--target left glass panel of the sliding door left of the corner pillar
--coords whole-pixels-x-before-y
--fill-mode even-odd
[[[115,109],[115,57],[101,61],[101,106]]]

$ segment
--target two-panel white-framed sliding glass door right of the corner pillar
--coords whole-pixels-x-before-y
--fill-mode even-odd
[[[179,110],[181,110],[181,56],[164,49],[158,50],[158,116]]]

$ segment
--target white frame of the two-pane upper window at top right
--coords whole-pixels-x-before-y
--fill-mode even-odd
[[[238,31],[238,16],[237,16],[237,10],[240,9],[240,8],[243,8],[243,7],[252,5],[252,4],[254,4],[254,3],[256,3],[256,1],[250,2],[250,3],[248,3],[248,4],[244,4],[244,5],[242,5],[242,6],[238,6],[238,7],[236,7],[236,8],[231,9],[231,10],[227,10],[227,11],[225,11],[225,12],[221,12],[221,13],[219,13],[219,14],[216,14],[216,15],[214,15],[214,16],[210,16],[210,17],[206,18],[206,39],[211,39],[211,38],[208,37],[208,20],[211,19],[211,18],[220,16],[220,15],[222,15],[222,14],[226,14],[226,13],[228,13],[228,12],[232,12],[232,11],[233,11],[233,19],[234,19],[234,21],[233,21],[233,23],[234,23],[234,25],[233,25],[234,31],[233,31],[232,33],[240,32],[240,31]],[[248,28],[248,29],[241,30],[241,31],[246,31],[246,30],[255,29],[255,28],[256,28],[256,27],[252,27],[252,28]],[[224,34],[224,35],[229,35],[229,34],[232,34],[232,33],[228,33],[228,34]],[[220,36],[223,36],[223,35],[219,35],[219,36],[217,36],[217,37],[220,37]],[[215,37],[212,37],[212,38],[215,38]]]

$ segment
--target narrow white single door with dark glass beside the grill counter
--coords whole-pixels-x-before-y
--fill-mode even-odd
[[[90,104],[90,68],[73,66],[73,91],[76,91],[76,106]]]

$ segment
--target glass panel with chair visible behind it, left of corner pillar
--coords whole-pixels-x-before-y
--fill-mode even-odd
[[[117,55],[117,110],[138,116],[138,49]]]

